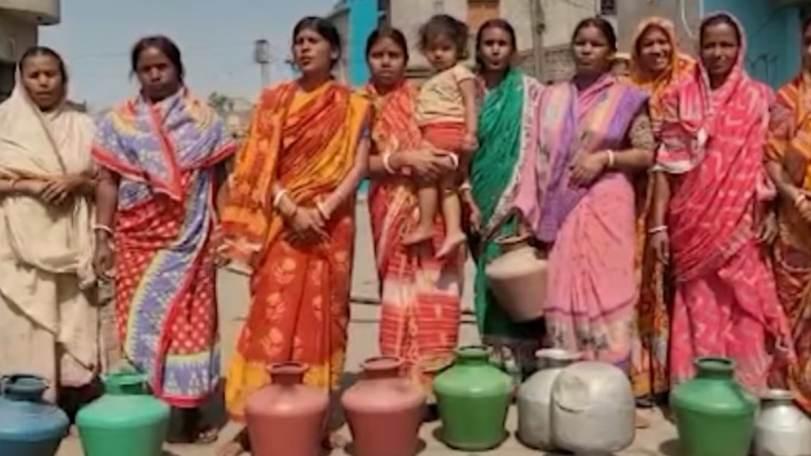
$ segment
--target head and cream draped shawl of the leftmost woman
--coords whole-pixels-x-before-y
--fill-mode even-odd
[[[41,46],[28,49],[16,81],[11,97],[0,105],[0,176],[47,181],[92,173],[93,121],[66,101],[68,74],[59,54]],[[2,218],[3,236],[21,264],[78,275],[82,286],[94,284],[93,214],[87,199],[76,198],[65,212],[9,195]]]

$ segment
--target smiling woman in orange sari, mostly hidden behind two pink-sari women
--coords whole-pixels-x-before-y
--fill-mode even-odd
[[[648,108],[652,122],[661,118],[662,94],[695,68],[695,60],[678,48],[673,23],[661,17],[642,21],[631,50],[631,83],[650,95]],[[638,337],[633,347],[631,379],[634,393],[643,405],[650,405],[670,388],[667,374],[669,336],[668,304],[665,299],[665,268],[646,248],[646,221],[653,196],[653,181],[641,179],[637,201],[637,267],[640,296],[637,304]]]

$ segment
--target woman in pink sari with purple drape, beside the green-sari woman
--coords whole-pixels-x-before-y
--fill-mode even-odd
[[[522,176],[516,205],[549,248],[552,344],[627,371],[638,295],[632,176],[653,161],[647,95],[611,74],[607,21],[580,22],[572,48],[577,74],[542,95],[541,153],[522,167],[534,176]]]

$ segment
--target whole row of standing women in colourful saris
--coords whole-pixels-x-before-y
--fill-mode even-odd
[[[513,66],[508,22],[481,26],[478,149],[459,191],[477,322],[497,355],[530,371],[541,345],[574,350],[624,369],[647,401],[690,378],[695,357],[727,356],[745,387],[790,387],[811,412],[811,22],[802,36],[803,69],[775,99],[747,75],[726,13],[703,20],[697,60],[669,21],[643,22],[627,77],[611,72],[610,23],[583,20],[576,74],[549,86]],[[95,283],[113,280],[127,359],[186,418],[185,439],[211,440],[197,411],[220,377],[215,269],[241,261],[251,306],[226,374],[232,417],[274,363],[305,363],[307,384],[335,391],[368,176],[379,349],[430,389],[457,345],[465,254],[436,255],[441,217],[426,242],[404,237],[418,184],[459,160],[421,135],[408,50],[401,32],[375,31],[371,80],[352,91],[332,77],[335,28],[301,20],[299,77],[262,92],[239,151],[165,37],[133,48],[141,91],[97,125],[67,101],[59,55],[27,52],[0,106],[2,370],[45,376],[52,400],[90,384]],[[518,234],[550,266],[545,316],[521,324],[484,274]],[[241,434],[222,454],[247,445]]]

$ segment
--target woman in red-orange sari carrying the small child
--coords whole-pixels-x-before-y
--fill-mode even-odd
[[[374,107],[369,212],[381,284],[380,352],[402,358],[411,378],[430,391],[430,372],[449,364],[456,348],[463,256],[436,258],[442,223],[433,244],[406,247],[402,238],[418,221],[414,180],[433,180],[451,171],[453,162],[422,146],[417,92],[405,80],[405,36],[396,29],[375,31],[366,56],[372,79],[362,94]]]

